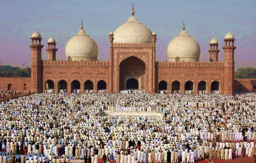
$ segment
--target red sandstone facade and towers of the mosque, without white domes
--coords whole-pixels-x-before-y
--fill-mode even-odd
[[[31,90],[41,93],[47,88],[54,92],[67,89],[106,89],[107,93],[119,93],[126,89],[127,81],[134,78],[139,89],[146,93],[167,90],[213,90],[232,95],[234,91],[255,92],[256,79],[234,79],[234,39],[224,39],[224,61],[218,61],[218,44],[210,43],[210,61],[156,62],[156,35],[152,43],[113,43],[109,35],[109,61],[56,60],[56,43],[48,43],[47,58],[41,59],[41,38],[31,38],[31,78],[0,78],[0,89]]]

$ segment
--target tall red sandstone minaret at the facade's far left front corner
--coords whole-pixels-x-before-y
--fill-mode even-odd
[[[41,44],[41,35],[37,32],[32,34],[31,39],[31,92],[43,92],[42,83],[42,57],[41,52],[44,45]]]

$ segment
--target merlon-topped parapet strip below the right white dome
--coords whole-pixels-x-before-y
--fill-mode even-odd
[[[157,66],[224,66],[224,61],[199,61],[199,62],[172,62],[172,61],[157,61]]]

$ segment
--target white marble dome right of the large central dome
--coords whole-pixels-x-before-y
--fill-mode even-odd
[[[185,31],[185,27],[181,33],[170,41],[167,47],[168,61],[199,61],[200,46]]]

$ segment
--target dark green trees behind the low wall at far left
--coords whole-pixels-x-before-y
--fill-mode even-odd
[[[30,77],[30,72],[26,72],[20,67],[3,65],[0,67],[0,76],[2,77]]]

